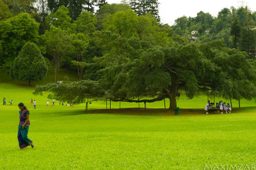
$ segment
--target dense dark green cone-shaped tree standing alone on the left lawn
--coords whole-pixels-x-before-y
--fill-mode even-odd
[[[31,81],[44,79],[48,67],[35,43],[26,43],[13,61],[11,76],[15,80]]]

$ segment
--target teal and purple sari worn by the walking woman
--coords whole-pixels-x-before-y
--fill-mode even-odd
[[[27,146],[31,145],[32,141],[28,138],[28,129],[30,122],[28,121],[27,124],[22,129],[22,125],[26,122],[27,114],[29,114],[28,110],[19,111],[20,113],[20,123],[19,123],[19,131],[18,131],[18,140],[20,149],[26,148]]]

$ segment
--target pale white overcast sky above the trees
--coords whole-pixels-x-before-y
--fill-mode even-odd
[[[108,3],[120,3],[121,0],[107,0]],[[173,25],[174,20],[182,17],[195,17],[199,11],[209,12],[216,17],[223,8],[238,7],[243,0],[159,0],[161,22]],[[256,11],[256,0],[246,0],[246,5]]]

